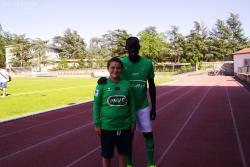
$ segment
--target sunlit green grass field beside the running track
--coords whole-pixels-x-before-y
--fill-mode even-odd
[[[173,79],[159,77],[156,84]],[[13,78],[0,98],[0,121],[93,99],[96,78]]]

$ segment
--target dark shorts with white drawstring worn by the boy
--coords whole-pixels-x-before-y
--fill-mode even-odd
[[[101,131],[102,157],[111,159],[114,155],[114,148],[119,154],[130,155],[132,152],[131,130],[103,130]]]

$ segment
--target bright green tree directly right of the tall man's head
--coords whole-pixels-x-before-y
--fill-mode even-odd
[[[155,27],[147,27],[145,30],[138,33],[140,38],[140,54],[152,59],[154,62],[159,62],[161,53],[166,49],[165,36],[163,33],[158,33]]]

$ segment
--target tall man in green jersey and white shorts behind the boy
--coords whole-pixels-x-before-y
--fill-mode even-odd
[[[131,83],[135,97],[137,130],[143,133],[146,143],[148,167],[156,167],[154,160],[154,138],[151,120],[156,118],[156,88],[154,83],[154,70],[152,61],[139,55],[140,42],[136,37],[126,40],[128,56],[122,58],[124,69],[121,77]],[[105,78],[98,83],[106,82]],[[147,98],[147,82],[151,109]],[[127,167],[132,167],[132,156],[129,156]]]

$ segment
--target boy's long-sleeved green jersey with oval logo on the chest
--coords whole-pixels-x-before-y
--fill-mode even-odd
[[[105,130],[129,129],[135,123],[135,103],[126,80],[97,85],[94,95],[94,126]]]

